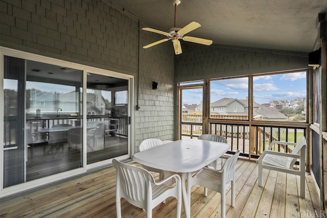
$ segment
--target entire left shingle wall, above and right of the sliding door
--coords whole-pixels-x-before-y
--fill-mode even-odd
[[[7,0],[0,1],[0,30],[1,46],[133,75],[134,146],[149,137],[173,139],[172,45],[139,49],[134,18],[100,0]],[[158,39],[143,32],[141,46]]]

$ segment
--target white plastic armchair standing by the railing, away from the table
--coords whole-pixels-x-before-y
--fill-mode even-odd
[[[274,144],[284,144],[295,146],[292,153],[284,153],[271,151]],[[262,169],[272,169],[273,171],[279,171],[300,176],[300,197],[306,197],[306,147],[307,141],[302,136],[297,143],[285,142],[285,141],[272,141],[267,150],[265,150],[259,157],[257,162],[259,163],[259,178],[258,185],[262,186]],[[299,170],[294,169],[295,161],[300,161]]]

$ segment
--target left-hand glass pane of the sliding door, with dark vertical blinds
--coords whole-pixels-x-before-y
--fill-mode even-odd
[[[4,60],[4,188],[81,167],[83,71]]]

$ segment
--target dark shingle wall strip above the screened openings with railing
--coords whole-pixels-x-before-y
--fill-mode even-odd
[[[175,82],[308,68],[308,54],[247,47],[182,44]]]

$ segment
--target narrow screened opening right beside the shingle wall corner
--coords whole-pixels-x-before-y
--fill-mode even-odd
[[[179,139],[202,135],[202,86],[179,88]]]

